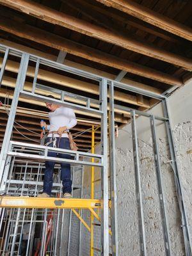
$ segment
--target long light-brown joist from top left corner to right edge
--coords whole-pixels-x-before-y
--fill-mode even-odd
[[[117,2],[119,2],[120,4],[120,2],[122,1],[117,0]],[[83,33],[84,35],[92,36],[99,40],[106,41],[110,44],[116,44],[120,47],[128,49],[129,51],[138,52],[140,54],[156,58],[157,60],[166,61],[173,65],[183,67],[184,69],[189,71],[192,70],[192,61],[188,60],[187,58],[173,54],[172,52],[166,52],[163,49],[158,48],[154,45],[149,45],[144,42],[138,42],[134,38],[121,35],[118,32],[115,33],[114,31],[108,31],[108,29],[96,26],[94,24],[90,24],[89,22],[77,19],[65,13],[58,12],[42,4],[38,4],[27,0],[0,0],[0,3],[15,10],[19,10],[20,12],[33,15],[38,19],[45,20],[52,24],[57,24],[65,28],[72,29],[79,33]]]

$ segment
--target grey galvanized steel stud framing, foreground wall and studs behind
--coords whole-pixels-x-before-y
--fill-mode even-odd
[[[21,157],[22,159],[25,159],[29,164],[29,161],[45,161],[47,159],[60,162],[63,161],[65,163],[70,164],[82,164],[83,166],[97,166],[101,170],[101,184],[102,184],[102,207],[101,207],[101,248],[100,253],[103,256],[109,255],[109,193],[108,193],[108,149],[109,149],[109,156],[110,156],[110,184],[111,184],[111,212],[112,212],[112,218],[111,218],[111,230],[112,230],[112,253],[113,256],[118,256],[118,232],[117,232],[117,209],[116,209],[116,161],[115,161],[115,124],[114,124],[114,108],[119,108],[124,111],[127,111],[127,113],[131,113],[132,118],[132,147],[133,147],[133,153],[134,153],[134,168],[135,168],[135,177],[136,177],[136,196],[138,200],[138,215],[139,215],[139,227],[140,227],[140,252],[141,255],[147,256],[147,246],[146,246],[146,239],[145,239],[145,222],[144,222],[144,214],[143,214],[143,201],[142,201],[142,191],[141,191],[141,179],[140,179],[140,158],[139,158],[139,151],[138,151],[138,136],[137,136],[137,129],[136,129],[136,117],[138,115],[141,116],[147,116],[150,118],[150,125],[151,125],[151,131],[152,131],[152,140],[153,140],[153,148],[154,148],[154,160],[155,160],[155,168],[156,168],[156,174],[157,174],[157,184],[158,184],[158,191],[159,191],[159,202],[160,202],[160,209],[161,209],[161,217],[163,220],[163,230],[164,230],[164,244],[165,244],[165,252],[167,256],[171,256],[172,253],[170,252],[170,237],[169,237],[169,230],[168,230],[168,220],[166,218],[166,207],[164,203],[164,196],[163,196],[163,188],[161,184],[161,168],[159,164],[159,152],[158,152],[158,144],[157,144],[157,136],[156,136],[156,120],[161,120],[166,124],[166,132],[168,135],[168,143],[170,147],[170,154],[172,157],[172,168],[174,172],[175,177],[175,187],[177,188],[177,196],[179,198],[179,206],[180,206],[180,214],[181,214],[181,220],[182,220],[182,230],[184,233],[184,243],[185,243],[185,249],[186,249],[186,255],[191,256],[191,240],[189,236],[189,230],[188,230],[188,220],[186,218],[186,210],[184,201],[182,200],[182,186],[180,184],[180,177],[179,177],[179,170],[177,166],[177,159],[175,156],[175,148],[173,143],[173,135],[172,135],[172,128],[170,126],[170,116],[168,113],[168,104],[167,99],[164,95],[159,95],[156,93],[148,92],[146,90],[142,90],[139,88],[135,88],[134,86],[129,86],[128,84],[120,83],[118,81],[113,81],[111,79],[106,79],[105,77],[97,76],[95,74],[91,74],[88,72],[84,72],[82,70],[79,70],[77,68],[68,67],[67,65],[63,65],[61,63],[57,63],[54,61],[49,61],[44,58],[40,58],[38,56],[34,56],[32,54],[27,54],[25,52],[17,51],[16,49],[12,49],[10,47],[6,47],[5,45],[0,45],[0,51],[4,52],[4,59],[3,59],[3,65],[1,66],[1,72],[0,72],[0,84],[3,79],[4,70],[6,67],[6,61],[8,60],[9,54],[12,54],[14,56],[17,56],[20,58],[20,67],[19,72],[17,76],[17,82],[15,86],[15,92],[13,95],[12,100],[12,107],[10,109],[8,123],[6,126],[6,131],[4,134],[4,140],[3,145],[1,148],[1,156],[0,156],[0,181],[1,181],[1,189],[12,189],[12,193],[15,193],[15,188],[13,188],[13,183],[15,182],[14,179],[12,179],[10,173],[15,173],[15,170],[13,170],[13,164],[10,163],[11,159],[17,159],[17,157]],[[28,63],[30,61],[35,61],[36,68],[35,68],[35,77],[33,79],[33,88],[31,92],[24,91],[24,82],[26,79],[26,72],[28,68]],[[79,95],[76,95],[77,99],[84,100],[86,104],[85,106],[65,102],[63,99],[65,92],[61,91],[59,92],[61,94],[61,100],[56,99],[49,99],[45,96],[38,95],[36,93],[36,88],[43,88],[46,90],[46,86],[37,84],[37,76],[38,76],[38,68],[39,65],[47,65],[50,67],[58,68],[59,70],[64,70],[65,72],[70,72],[72,74],[76,74],[78,76],[86,77],[88,79],[93,79],[99,83],[99,100],[97,100],[97,104],[100,105],[100,109],[92,108],[92,102],[95,102],[95,99],[87,99],[85,97],[79,97]],[[109,120],[108,120],[108,86],[109,86]],[[164,108],[164,116],[153,116],[149,113],[145,113],[143,111],[139,111],[137,109],[131,109],[124,106],[116,105],[114,102],[114,90],[115,88],[122,88],[123,90],[126,90],[127,92],[132,93],[138,93],[140,95],[145,95],[147,97],[152,97],[154,99],[161,100],[163,102],[163,108]],[[30,143],[20,143],[15,141],[10,141],[12,129],[13,129],[13,123],[15,119],[15,113],[17,111],[17,104],[19,102],[19,97],[29,97],[31,99],[35,100],[42,100],[46,102],[49,100],[52,103],[61,104],[62,106],[67,106],[68,108],[72,109],[79,109],[81,111],[86,111],[88,113],[92,112],[100,116],[101,121],[101,147],[102,147],[102,154],[91,154],[91,153],[84,153],[84,152],[72,152],[72,150],[61,150],[61,149],[54,149],[49,147],[44,147],[40,145],[34,145]],[[74,97],[74,95],[72,95]],[[78,98],[79,97],[79,98]],[[109,148],[108,148],[108,124],[109,124]],[[23,149],[24,148],[24,149]],[[54,157],[48,157],[47,153],[51,151],[57,151],[57,152],[65,152],[66,154],[71,154],[74,156],[74,159],[56,159]],[[99,163],[95,161],[95,163],[92,163],[92,161],[80,161],[79,157],[89,157],[91,160],[92,158],[98,159]],[[80,158],[81,158],[80,157]],[[27,166],[28,168],[28,166]],[[36,167],[35,167],[36,168]],[[24,172],[24,168],[20,169],[20,177],[23,177],[24,180],[26,180],[26,176],[28,173],[27,170]],[[10,173],[9,173],[10,172]],[[32,174],[32,171],[31,171]],[[24,184],[22,184],[21,180],[19,180],[18,184],[20,184],[20,187],[17,193],[25,193],[25,195],[32,195],[35,193],[37,195],[38,188],[42,186],[42,166],[38,163],[38,181],[36,184],[34,183],[35,180],[26,180],[26,182],[29,182],[29,185],[31,185],[31,191],[24,188]],[[8,178],[9,177],[9,178]],[[26,183],[27,184],[27,183]],[[58,191],[60,188],[60,184],[58,182],[54,182],[56,184],[56,188],[54,193]],[[82,190],[81,190],[82,191]],[[27,194],[26,194],[27,193]],[[32,193],[32,194],[30,194]],[[34,194],[33,194],[34,195]],[[83,195],[83,194],[82,194]],[[6,201],[6,198],[1,198],[2,202]],[[16,198],[15,198],[16,199]],[[3,201],[5,200],[5,201]],[[32,200],[32,199],[31,199]],[[37,201],[36,201],[37,202]],[[100,202],[100,201],[99,201]],[[76,202],[74,201],[74,204]],[[32,204],[33,205],[33,204]],[[33,207],[32,207],[33,208]],[[3,248],[3,253],[6,252],[7,246],[10,246],[10,238],[9,235],[12,233],[12,241],[16,241],[17,238],[17,230],[19,227],[19,222],[22,220],[26,221],[26,216],[30,216],[30,230],[33,230],[33,223],[36,220],[36,209],[30,210],[30,209],[3,209],[1,211],[1,217],[4,218],[4,216],[7,217],[8,221],[8,229],[6,230],[6,241]],[[8,211],[9,215],[8,215]],[[56,209],[55,212],[57,212],[57,218],[59,220],[60,218],[60,211],[62,211],[61,218],[64,218],[64,210]],[[80,211],[82,212],[82,210]],[[15,216],[16,218],[14,221],[12,221],[11,216]],[[46,237],[46,228],[47,228],[47,215],[48,211],[47,209],[44,210],[44,214],[42,215],[44,218],[44,225],[42,229],[42,233],[44,234],[42,243],[40,246],[40,255],[44,255],[45,253],[45,237]],[[41,220],[43,221],[43,220]],[[56,218],[54,218],[54,221],[57,221]],[[2,225],[1,221],[1,225]],[[79,255],[81,255],[81,228],[80,228],[80,238],[79,238]],[[52,230],[52,245],[56,243],[57,238],[57,232],[56,230]],[[31,252],[31,243],[28,243],[28,252]],[[12,244],[10,247],[11,255],[13,255],[15,248],[15,244]],[[56,253],[56,252],[55,252]],[[60,251],[61,254],[61,251]]]

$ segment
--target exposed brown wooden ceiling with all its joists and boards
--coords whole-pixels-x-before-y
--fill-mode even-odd
[[[191,1],[0,0],[0,4],[0,44],[158,94],[173,92],[191,78]],[[12,102],[18,70],[17,58],[10,56],[0,88],[1,101],[8,105]],[[28,91],[34,74],[35,67],[30,65],[25,84]],[[99,94],[94,81],[54,72],[49,67],[41,66],[37,79],[47,86],[93,99]],[[56,93],[54,96],[59,99]],[[70,97],[67,100],[83,104]],[[118,89],[115,100],[119,105],[142,111],[157,103]],[[99,108],[96,104],[92,106]],[[42,116],[48,119],[44,103],[20,97],[17,110],[16,122],[36,133],[15,124],[13,139],[26,141],[20,131],[39,140],[39,121]],[[3,106],[0,113],[1,144],[8,116]],[[93,122],[99,124],[97,115],[76,111],[76,116],[78,123],[73,134],[88,130]],[[126,124],[129,113],[116,108],[115,122],[119,126]],[[97,130],[95,141],[99,140]],[[91,130],[77,137],[76,142],[80,150],[90,150]]]

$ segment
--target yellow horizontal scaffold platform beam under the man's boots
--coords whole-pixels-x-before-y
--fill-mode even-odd
[[[98,199],[0,196],[0,208],[97,209],[100,205]]]

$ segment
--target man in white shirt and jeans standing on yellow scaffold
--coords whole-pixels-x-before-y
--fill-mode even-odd
[[[48,97],[52,97],[49,95]],[[46,107],[49,109],[49,123],[40,122],[40,126],[49,130],[45,145],[49,147],[58,147],[64,149],[70,149],[70,143],[68,140],[67,131],[77,124],[76,115],[73,109],[65,108],[58,104],[52,104],[46,102]],[[70,159],[68,154],[57,154],[56,152],[48,152],[48,156],[60,157]],[[52,175],[54,171],[54,162],[45,161],[45,173],[44,173],[44,190],[38,197],[51,196],[52,189]],[[72,180],[70,177],[70,164],[61,163],[61,180],[63,183],[63,197],[71,198]]]

